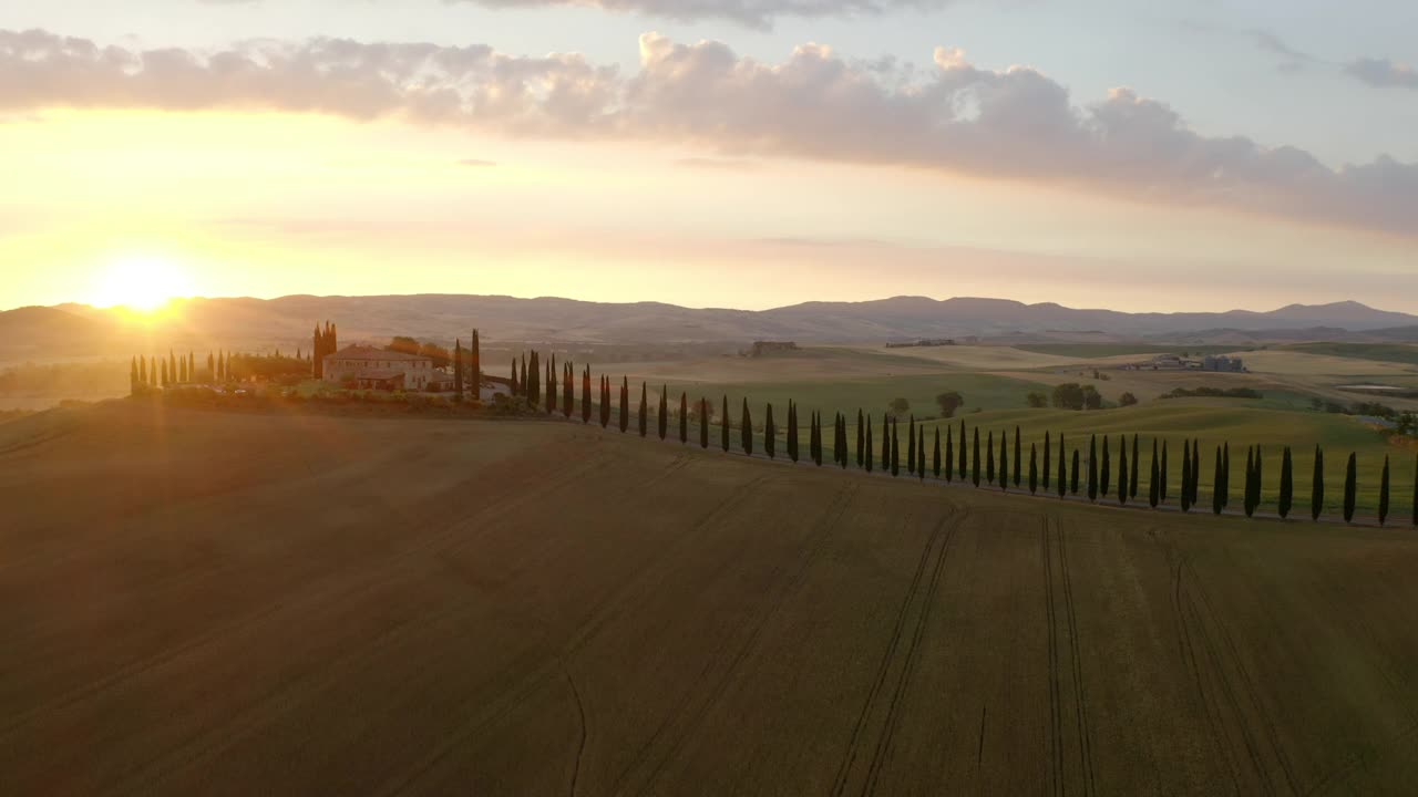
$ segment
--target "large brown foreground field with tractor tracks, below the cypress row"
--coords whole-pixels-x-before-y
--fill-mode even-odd
[[[0,502],[14,794],[1418,777],[1408,530],[1117,512],[573,424],[136,403],[4,424]]]

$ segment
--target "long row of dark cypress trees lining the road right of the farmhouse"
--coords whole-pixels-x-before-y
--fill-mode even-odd
[[[552,357],[545,366],[540,364],[540,355],[532,353],[522,360],[513,359],[513,393],[527,398],[536,411],[559,413],[566,418],[574,414],[576,394],[571,387],[574,369],[571,363],[563,363],[560,372],[556,369],[556,359]],[[557,391],[557,373],[563,390]],[[603,428],[610,428],[614,423],[621,433],[634,428],[641,437],[648,437],[651,421],[654,420],[655,435],[659,440],[669,437],[671,420],[678,418],[678,440],[682,444],[691,442],[691,421],[698,427],[698,442],[700,448],[712,444],[710,427],[718,424],[718,445],[725,452],[742,452],[754,455],[756,447],[761,447],[761,454],[769,459],[780,455],[793,462],[798,462],[804,454],[800,448],[803,423],[795,401],[788,400],[786,407],[774,407],[767,403],[763,407],[761,424],[754,420],[754,410],[744,397],[737,407],[737,428],[730,416],[729,397],[723,396],[718,403],[706,396],[691,400],[688,391],[679,393],[678,413],[671,408],[672,393],[666,386],[658,390],[658,398],[649,400],[649,386],[641,383],[638,397],[634,396],[630,379],[621,377],[617,384],[613,377],[601,374],[597,393],[591,394],[591,369],[584,366],[580,374],[580,418],[583,424],[594,421]],[[613,397],[613,393],[617,393]],[[560,398],[559,398],[560,397]],[[718,418],[715,404],[719,404]],[[634,414],[635,424],[631,425]],[[784,418],[784,425],[778,427],[778,418]],[[805,458],[821,467],[831,448],[832,464],[841,469],[855,467],[864,472],[885,471],[892,476],[900,476],[905,471],[917,479],[927,475],[944,484],[967,482],[976,488],[997,488],[1004,492],[1028,491],[1031,495],[1055,494],[1059,498],[1082,496],[1090,502],[1113,501],[1120,506],[1143,505],[1156,509],[1176,502],[1183,512],[1194,512],[1205,508],[1215,515],[1221,515],[1232,506],[1232,498],[1239,502],[1245,516],[1255,516],[1262,509],[1273,509],[1282,519],[1290,518],[1296,512],[1295,482],[1302,478],[1295,472],[1295,462],[1290,447],[1279,451],[1279,485],[1265,494],[1265,469],[1269,465],[1268,452],[1261,445],[1251,445],[1245,451],[1244,471],[1232,479],[1232,458],[1239,457],[1231,451],[1231,444],[1217,445],[1202,457],[1201,441],[1185,438],[1180,441],[1180,450],[1173,450],[1168,440],[1153,438],[1149,451],[1141,448],[1141,435],[1089,435],[1086,445],[1081,441],[1068,440],[1064,434],[1054,435],[1045,433],[1042,438],[1025,441],[1018,425],[1012,430],[995,430],[976,425],[971,428],[964,418],[957,423],[936,424],[930,438],[926,438],[926,424],[917,424],[915,417],[909,417],[905,433],[899,416],[883,413],[879,425],[875,418],[856,410],[855,441],[849,440],[848,428],[851,418],[844,413],[834,413],[831,428],[822,413],[810,413],[807,418],[807,452]],[[942,437],[942,428],[944,435]],[[737,433],[737,434],[735,434]],[[984,435],[981,438],[981,434]],[[905,437],[905,440],[902,440]],[[736,442],[735,442],[736,441]],[[780,450],[780,441],[783,448]],[[855,442],[855,445],[854,445]],[[1181,478],[1178,484],[1168,484],[1168,475],[1174,472],[1173,462],[1180,459]],[[1144,467],[1146,461],[1146,467]],[[1236,459],[1239,462],[1239,459]],[[1378,512],[1380,525],[1390,522],[1392,511],[1392,488],[1390,458],[1384,458],[1378,484]],[[1211,468],[1211,492],[1202,495],[1201,476],[1204,468]],[[1412,485],[1411,520],[1418,526],[1418,458],[1415,458]],[[1323,447],[1316,447],[1313,472],[1310,474],[1310,506],[1312,520],[1324,516],[1324,502],[1329,495],[1326,482],[1326,452]],[[1235,495],[1232,495],[1235,494]],[[1340,486],[1341,516],[1344,522],[1353,522],[1358,494],[1358,455],[1350,452],[1344,462],[1344,479]]]

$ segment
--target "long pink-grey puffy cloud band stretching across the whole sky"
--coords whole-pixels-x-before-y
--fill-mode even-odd
[[[1418,165],[1378,157],[1332,169],[1295,147],[1202,136],[1127,88],[1078,105],[1037,69],[981,69],[947,48],[930,69],[854,64],[820,44],[766,64],[718,41],[651,33],[640,38],[640,69],[621,75],[576,54],[485,45],[316,38],[200,54],[0,31],[0,112],[48,106],[400,118],[726,159],[934,169],[1418,235]]]

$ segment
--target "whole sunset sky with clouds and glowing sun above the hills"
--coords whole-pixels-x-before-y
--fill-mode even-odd
[[[1418,4],[0,0],[0,309],[1418,312]]]

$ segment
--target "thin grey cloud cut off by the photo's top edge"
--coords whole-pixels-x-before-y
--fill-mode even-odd
[[[769,28],[778,17],[855,17],[898,10],[932,10],[951,0],[451,0],[491,9],[580,6],[604,11],[638,13],[671,20],[720,18]]]

